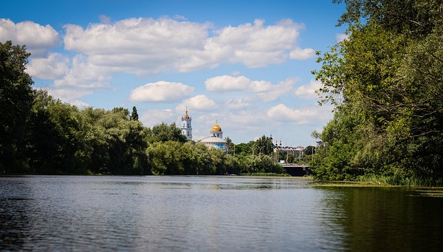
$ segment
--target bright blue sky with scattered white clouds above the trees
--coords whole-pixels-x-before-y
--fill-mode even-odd
[[[26,44],[36,88],[80,108],[137,107],[143,125],[193,140],[217,121],[234,143],[313,145],[315,51],[343,39],[344,4],[324,1],[3,0],[0,41]]]

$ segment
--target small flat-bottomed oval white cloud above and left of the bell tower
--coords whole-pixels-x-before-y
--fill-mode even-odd
[[[180,82],[159,81],[147,83],[131,91],[129,100],[133,102],[174,102],[189,96],[194,87]]]

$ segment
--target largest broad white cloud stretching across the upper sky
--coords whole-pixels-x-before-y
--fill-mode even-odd
[[[248,67],[280,64],[294,50],[302,24],[287,19],[211,30],[210,23],[174,19],[124,19],[82,28],[64,26],[67,50],[89,55],[92,64],[112,71],[148,75],[214,68],[223,62]],[[212,35],[212,37],[210,37]]]

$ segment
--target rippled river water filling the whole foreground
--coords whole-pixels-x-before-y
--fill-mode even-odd
[[[0,177],[0,251],[442,251],[441,196],[296,179]]]

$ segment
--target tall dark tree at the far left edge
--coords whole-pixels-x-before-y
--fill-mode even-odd
[[[26,122],[32,107],[33,80],[25,72],[26,46],[0,42],[0,171],[23,172]]]

